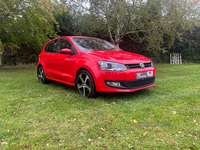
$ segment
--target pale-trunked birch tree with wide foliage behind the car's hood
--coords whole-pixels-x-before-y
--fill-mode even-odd
[[[128,35],[148,50],[164,51],[197,20],[199,0],[73,0],[71,5],[101,20],[117,46]]]

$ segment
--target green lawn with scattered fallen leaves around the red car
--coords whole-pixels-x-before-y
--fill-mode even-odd
[[[200,149],[200,64],[155,67],[155,87],[95,99],[0,67],[0,149]]]

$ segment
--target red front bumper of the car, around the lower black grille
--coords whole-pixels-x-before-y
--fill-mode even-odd
[[[136,80],[136,73],[147,71],[153,71],[153,76]],[[94,73],[98,92],[133,92],[155,86],[156,70],[154,67],[129,69],[123,72],[96,70]],[[111,83],[116,83],[116,85]]]

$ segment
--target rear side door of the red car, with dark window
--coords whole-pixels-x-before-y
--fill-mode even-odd
[[[42,59],[45,64],[46,76],[50,78],[56,77],[56,54],[57,54],[58,39],[50,41],[45,47],[45,55]]]

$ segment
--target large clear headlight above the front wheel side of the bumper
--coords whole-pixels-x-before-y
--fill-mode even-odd
[[[98,64],[101,70],[125,71],[127,69],[123,64],[109,62],[109,61],[99,61]]]

